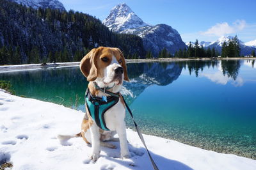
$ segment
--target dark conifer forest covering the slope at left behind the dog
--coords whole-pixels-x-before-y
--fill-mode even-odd
[[[140,36],[109,31],[99,19],[70,10],[38,10],[0,0],[0,65],[80,61],[99,46],[143,58]]]

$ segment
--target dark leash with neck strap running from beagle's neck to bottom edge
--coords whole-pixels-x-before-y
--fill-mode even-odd
[[[111,92],[111,91],[108,91],[108,89],[110,89],[110,88],[100,88],[100,87],[98,86],[97,82],[93,82],[93,84],[94,84],[95,89],[98,89],[99,91],[102,91],[103,93],[106,93],[106,94],[111,95],[111,96],[113,96],[113,97],[120,97],[119,93],[113,93],[113,92]],[[113,87],[112,87],[112,88],[113,88]],[[121,97],[122,97],[123,100],[124,100],[123,95],[121,95]],[[135,126],[135,128],[136,128],[136,130],[137,130],[137,133],[138,133],[138,135],[139,135],[139,137],[140,137],[140,140],[141,140],[141,142],[143,143],[143,145],[145,146],[145,148],[146,148],[146,150],[147,150],[148,157],[150,158],[150,161],[151,161],[151,163],[152,163],[152,166],[154,167],[155,170],[158,170],[158,167],[156,166],[156,163],[154,162],[153,158],[151,157],[151,155],[150,155],[150,153],[149,153],[149,151],[148,151],[147,145],[146,145],[146,143],[145,143],[145,141],[144,141],[143,135],[141,134],[140,128],[138,127],[137,123],[135,122],[135,120],[134,120],[134,118],[133,118],[132,111],[131,111],[131,109],[129,108],[129,106],[127,105],[127,103],[125,102],[125,100],[124,100],[124,104],[125,104],[125,107],[127,108],[128,112],[129,112],[129,114],[130,114],[131,117],[132,117],[132,121],[133,121],[134,126]]]

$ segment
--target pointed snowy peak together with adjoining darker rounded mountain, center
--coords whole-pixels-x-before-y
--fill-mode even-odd
[[[164,48],[173,54],[179,49],[186,48],[177,30],[166,24],[146,24],[125,3],[115,6],[103,24],[117,33],[140,36],[145,50],[151,51],[154,56],[158,56]]]

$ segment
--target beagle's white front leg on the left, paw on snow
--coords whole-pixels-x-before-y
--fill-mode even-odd
[[[92,137],[92,153],[90,155],[90,159],[95,162],[100,156],[100,133],[99,127],[97,127],[96,123],[93,123],[90,126],[91,137]]]

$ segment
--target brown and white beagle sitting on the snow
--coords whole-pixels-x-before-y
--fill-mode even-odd
[[[88,91],[92,97],[109,97],[108,94],[95,88],[95,84],[99,88],[120,94],[123,81],[129,81],[125,58],[118,48],[99,47],[92,49],[81,60],[80,70],[89,82]],[[86,105],[86,114],[81,125],[81,136],[87,144],[92,144],[90,159],[93,162],[99,158],[100,145],[115,148],[113,144],[104,143],[104,141],[116,140],[113,138],[116,133],[120,141],[120,157],[131,157],[125,131],[125,104],[122,95],[118,99],[118,102],[104,113],[104,121],[108,131],[100,129],[90,115],[88,105]]]

